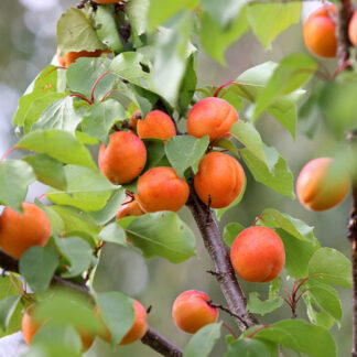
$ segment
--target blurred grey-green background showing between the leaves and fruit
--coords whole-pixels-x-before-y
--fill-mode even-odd
[[[15,112],[18,99],[37,73],[51,62],[56,52],[56,21],[66,8],[75,6],[76,2],[74,0],[0,1],[1,155],[17,141],[11,119]],[[303,13],[311,11],[314,4],[310,3],[307,7],[310,8],[305,7]],[[227,51],[227,67],[220,66],[201,53],[198,82],[201,85],[220,85],[236,78],[251,66],[266,61],[280,61],[283,56],[294,52],[306,52],[302,41],[301,23],[279,35],[273,42],[271,51],[264,51],[252,33],[247,33]],[[324,63],[329,68],[336,66],[334,61]],[[310,84],[310,86],[312,85],[313,83]],[[245,118],[244,111],[240,112],[240,117]],[[262,117],[259,120],[258,130],[264,142],[274,145],[288,160],[294,177],[309,160],[332,155],[335,147],[334,139],[324,125],[324,118],[314,111],[299,122],[295,141],[270,117]],[[315,136],[313,139],[307,139],[305,133],[312,132],[312,130],[315,130]],[[15,156],[17,153],[13,153],[11,158]],[[41,195],[44,190],[40,184],[32,185],[28,199],[31,201]],[[322,246],[336,248],[349,257],[349,244],[346,239],[349,205],[350,197],[328,212],[307,212],[298,201],[290,201],[256,183],[248,173],[247,192],[242,202],[238,207],[226,213],[219,225],[221,229],[229,221],[239,221],[249,226],[264,208],[277,208],[314,226],[315,235]],[[181,212],[181,215],[195,229],[194,221],[186,208]],[[195,231],[197,232],[196,229]],[[205,272],[213,267],[198,235],[198,256],[181,264],[172,264],[160,258],[145,261],[136,250],[119,246],[107,245],[105,248],[102,253],[106,256],[106,263],[98,268],[95,288],[98,291],[120,290],[136,296],[144,306],[152,305],[149,323],[180,346],[184,346],[191,336],[180,332],[171,318],[171,306],[177,294],[187,289],[196,289],[208,293],[215,302],[225,303],[218,284],[212,275]],[[289,289],[291,284],[292,282],[283,275],[282,285]],[[268,284],[255,285],[242,282],[242,286],[247,295],[249,291],[259,291],[262,298],[267,298]],[[338,356],[347,356],[351,346],[351,292],[347,289],[338,291],[344,316],[342,326],[335,325],[332,332],[338,346]],[[306,317],[302,301],[298,315]],[[290,316],[290,309],[283,305],[273,314],[262,317],[261,321],[274,322]],[[234,322],[225,313],[220,313],[220,317],[234,326]],[[223,333],[226,334],[226,331]],[[212,356],[223,356],[223,343],[217,344]],[[158,355],[140,343],[111,349],[101,340],[97,340],[86,356],[151,357]],[[284,356],[290,356],[290,354],[284,353]]]

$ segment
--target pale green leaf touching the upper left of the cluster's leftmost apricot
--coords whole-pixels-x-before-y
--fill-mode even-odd
[[[82,131],[101,142],[107,142],[109,130],[115,122],[123,119],[126,119],[125,108],[117,100],[109,98],[88,108],[82,122]]]

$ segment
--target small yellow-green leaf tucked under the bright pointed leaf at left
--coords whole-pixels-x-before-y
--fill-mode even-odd
[[[69,206],[48,206],[48,209],[54,210],[63,219],[66,232],[83,230],[89,235],[99,234],[99,228],[95,219],[78,208]]]

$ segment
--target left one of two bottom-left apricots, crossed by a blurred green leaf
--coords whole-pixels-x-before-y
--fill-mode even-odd
[[[22,329],[23,338],[28,345],[31,345],[34,335],[43,325],[43,322],[39,322],[34,320],[33,317],[34,309],[35,309],[34,304],[30,305],[22,316],[21,329]],[[84,332],[79,328],[77,331],[82,340],[82,351],[86,351],[93,345],[95,335]]]

